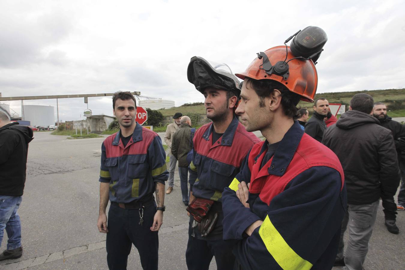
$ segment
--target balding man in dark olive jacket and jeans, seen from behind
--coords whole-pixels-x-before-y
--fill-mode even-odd
[[[180,127],[173,134],[172,138],[172,154],[179,161],[179,175],[181,196],[183,197],[183,204],[188,205],[188,162],[187,154],[192,149],[191,142],[191,119],[188,116],[183,116],[180,119]]]

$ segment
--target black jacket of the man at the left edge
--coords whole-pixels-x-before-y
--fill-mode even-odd
[[[32,139],[32,129],[18,123],[0,128],[0,195],[23,195],[28,143]]]

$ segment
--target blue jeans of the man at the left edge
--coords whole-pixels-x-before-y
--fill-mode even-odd
[[[8,250],[21,247],[21,221],[17,214],[21,201],[22,196],[0,195],[0,246],[4,228],[6,228],[7,236],[9,236]]]

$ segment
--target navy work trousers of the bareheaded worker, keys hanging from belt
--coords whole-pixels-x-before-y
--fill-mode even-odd
[[[156,213],[155,204],[143,210],[143,225],[139,225],[139,209],[123,209],[111,205],[108,211],[107,264],[110,270],[127,269],[132,244],[138,249],[143,269],[158,269],[158,232],[150,227]],[[133,269],[133,267],[130,267]]]

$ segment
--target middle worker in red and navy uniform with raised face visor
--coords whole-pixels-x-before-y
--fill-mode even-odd
[[[234,115],[239,80],[229,66],[192,57],[188,81],[205,98],[207,118],[194,134],[190,171],[188,269],[209,269],[213,256],[218,269],[232,269],[234,243],[222,239],[222,191],[238,174],[243,159],[260,140],[247,132]]]

